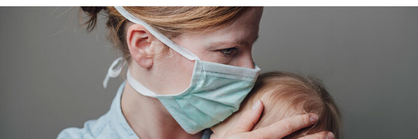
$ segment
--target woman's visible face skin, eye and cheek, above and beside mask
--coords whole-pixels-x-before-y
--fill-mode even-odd
[[[173,41],[188,49],[203,61],[238,67],[254,68],[251,48],[258,38],[258,26],[263,8],[250,8],[230,26],[217,31],[196,31],[184,33]],[[157,65],[157,79],[160,88],[157,94],[178,94],[190,83],[194,61],[170,49],[167,54],[154,60]]]

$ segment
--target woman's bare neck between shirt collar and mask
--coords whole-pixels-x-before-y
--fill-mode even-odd
[[[141,139],[202,136],[202,132],[194,135],[185,132],[160,100],[139,94],[129,83],[123,90],[121,108],[127,123]]]

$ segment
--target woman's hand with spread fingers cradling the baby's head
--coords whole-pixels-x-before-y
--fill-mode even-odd
[[[288,117],[284,120],[280,120],[270,126],[265,126],[261,129],[251,131],[252,127],[261,116],[263,112],[263,102],[258,100],[251,110],[242,113],[240,120],[224,135],[224,139],[244,139],[244,138],[283,138],[294,131],[302,129],[304,127],[315,124],[318,120],[318,115],[313,113],[305,115],[297,115]],[[314,138],[334,138],[334,134],[328,131],[311,134],[304,136],[301,139],[314,139]]]

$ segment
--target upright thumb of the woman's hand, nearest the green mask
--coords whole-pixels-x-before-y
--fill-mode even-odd
[[[234,133],[251,131],[254,124],[256,124],[260,118],[262,112],[263,102],[261,100],[257,100],[250,110],[242,113],[238,122],[227,133],[231,135]]]

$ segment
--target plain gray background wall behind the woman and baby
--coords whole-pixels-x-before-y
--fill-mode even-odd
[[[416,138],[418,8],[266,7],[254,60],[323,79],[345,138]],[[122,78],[117,57],[70,7],[0,8],[0,138],[56,138],[106,113]]]

